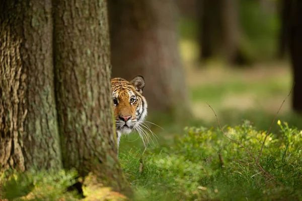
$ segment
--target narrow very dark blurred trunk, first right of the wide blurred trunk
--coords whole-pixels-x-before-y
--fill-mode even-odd
[[[221,1],[196,1],[199,58],[204,61],[221,50]]]

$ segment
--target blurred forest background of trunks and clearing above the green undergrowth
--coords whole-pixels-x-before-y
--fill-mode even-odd
[[[207,104],[222,124],[268,129],[294,82],[278,118],[302,125],[299,1],[126,2],[109,4],[112,77],[144,76],[148,118],[168,132],[160,139],[215,126]]]

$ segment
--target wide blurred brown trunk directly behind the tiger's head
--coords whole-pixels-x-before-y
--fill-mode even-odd
[[[145,78],[149,111],[188,116],[173,0],[110,0],[112,77]]]

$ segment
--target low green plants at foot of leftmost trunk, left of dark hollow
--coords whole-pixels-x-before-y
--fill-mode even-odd
[[[77,172],[9,171],[1,177],[0,198],[9,200],[76,200],[73,192],[66,192],[75,182]]]

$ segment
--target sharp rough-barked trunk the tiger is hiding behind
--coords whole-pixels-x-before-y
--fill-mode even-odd
[[[63,166],[105,185],[127,182],[117,160],[107,1],[54,1],[55,84]]]

